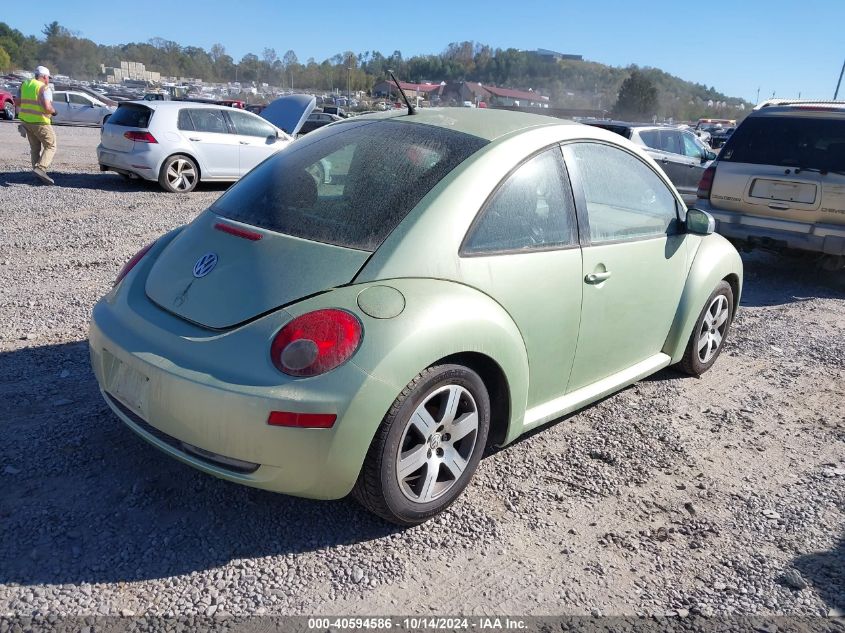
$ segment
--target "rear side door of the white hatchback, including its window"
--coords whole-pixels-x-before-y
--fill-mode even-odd
[[[238,179],[238,136],[230,131],[223,108],[184,108],[178,126],[200,163],[203,179]]]

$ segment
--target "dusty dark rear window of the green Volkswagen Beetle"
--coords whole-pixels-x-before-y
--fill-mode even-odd
[[[432,187],[486,144],[408,122],[327,126],[261,163],[211,210],[271,231],[374,251]]]

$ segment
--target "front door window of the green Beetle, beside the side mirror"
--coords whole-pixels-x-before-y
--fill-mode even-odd
[[[564,155],[584,192],[592,242],[678,232],[674,194],[639,158],[600,143],[566,145]]]

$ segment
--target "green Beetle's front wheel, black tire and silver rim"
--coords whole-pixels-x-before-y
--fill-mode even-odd
[[[684,357],[678,367],[691,376],[700,376],[713,366],[728,337],[734,314],[734,295],[726,281],[710,293],[690,334]]]

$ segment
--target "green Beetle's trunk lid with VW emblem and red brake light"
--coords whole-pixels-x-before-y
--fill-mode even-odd
[[[159,254],[146,293],[179,317],[226,329],[349,283],[369,255],[206,211]]]

